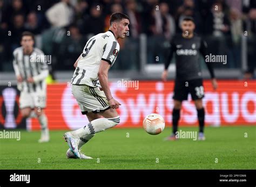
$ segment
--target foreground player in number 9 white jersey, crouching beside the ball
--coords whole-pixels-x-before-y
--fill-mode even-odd
[[[91,159],[80,152],[80,148],[95,133],[116,126],[120,122],[116,109],[121,105],[111,95],[107,73],[113,66],[119,52],[118,38],[125,38],[129,31],[129,17],[123,13],[113,13],[110,28],[90,38],[74,66],[72,94],[89,124],[76,131],[66,132],[64,139],[70,149],[68,157]]]

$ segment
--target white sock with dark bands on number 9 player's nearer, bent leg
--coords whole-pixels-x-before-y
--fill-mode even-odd
[[[92,120],[85,127],[79,128],[76,131],[72,131],[72,134],[76,136],[76,138],[81,138],[84,135],[95,134],[98,132],[105,131],[107,128],[111,128],[119,124],[120,118],[119,116],[114,118],[99,118]]]

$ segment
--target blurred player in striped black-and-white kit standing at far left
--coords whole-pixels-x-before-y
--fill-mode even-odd
[[[19,108],[25,118],[36,117],[41,125],[41,138],[38,142],[50,140],[48,119],[45,116],[46,106],[46,82],[48,65],[45,62],[44,53],[33,47],[35,42],[31,32],[23,32],[21,47],[14,51],[14,70],[17,77],[17,87],[21,91]]]

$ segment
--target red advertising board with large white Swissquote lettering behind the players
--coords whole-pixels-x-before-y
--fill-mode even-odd
[[[142,127],[145,116],[159,113],[171,126],[173,81],[117,81],[110,83],[114,98],[122,105],[118,109],[120,124],[116,127]],[[218,81],[214,91],[210,81],[204,81],[206,125],[256,125],[256,81]],[[82,115],[71,87],[66,84],[48,85],[47,107],[50,130],[77,129],[88,123]],[[183,102],[180,125],[198,124],[197,111],[191,96]],[[39,129],[37,119],[30,128]]]

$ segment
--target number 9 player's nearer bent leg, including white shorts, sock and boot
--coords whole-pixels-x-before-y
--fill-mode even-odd
[[[70,150],[77,157],[80,157],[78,149],[80,138],[116,126],[120,122],[120,118],[117,111],[110,108],[104,92],[100,91],[98,88],[92,88],[87,85],[72,85],[72,93],[82,113],[99,113],[104,117],[92,120],[89,124],[76,131],[66,132],[64,134],[64,138],[67,140]]]

